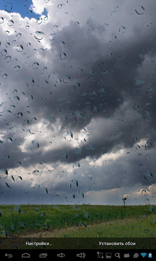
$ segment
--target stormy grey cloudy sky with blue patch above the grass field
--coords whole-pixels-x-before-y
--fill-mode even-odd
[[[155,8],[1,1],[0,204],[155,204]]]

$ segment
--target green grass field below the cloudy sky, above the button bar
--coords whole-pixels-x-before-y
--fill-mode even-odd
[[[1,205],[0,236],[38,231],[42,237],[49,231],[52,237],[59,229],[54,237],[151,238],[156,236],[154,209],[155,205]]]

